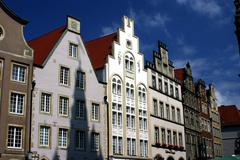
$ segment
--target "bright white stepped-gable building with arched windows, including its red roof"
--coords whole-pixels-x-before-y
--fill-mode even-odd
[[[106,43],[110,44],[106,47],[111,48],[109,53],[100,53]],[[134,35],[134,21],[124,16],[123,28],[86,46],[93,61],[96,55],[106,55],[106,62],[97,67],[96,61],[95,69],[107,86],[110,158],[149,159],[147,72]]]

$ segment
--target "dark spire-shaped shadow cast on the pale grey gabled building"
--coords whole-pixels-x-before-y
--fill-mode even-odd
[[[80,47],[84,47],[81,46],[82,42],[79,36],[78,39],[78,44],[80,44]],[[81,52],[81,51],[80,51]],[[74,95],[74,104],[72,106],[70,106],[70,113],[71,113],[71,119],[70,119],[70,128],[69,128],[69,139],[70,139],[70,143],[69,143],[69,147],[67,149],[67,155],[66,155],[66,159],[67,160],[103,160],[103,155],[102,155],[102,151],[101,151],[101,136],[103,135],[99,135],[99,150],[98,151],[94,151],[93,148],[93,137],[92,134],[95,133],[95,124],[92,123],[91,121],[91,114],[92,114],[92,100],[94,101],[94,99],[91,99],[91,97],[86,97],[86,93],[88,90],[88,86],[89,85],[95,85],[95,84],[89,84],[89,82],[86,80],[87,76],[91,76],[89,73],[90,68],[87,68],[83,65],[81,65],[81,61],[83,61],[84,59],[81,59],[81,55],[82,54],[86,54],[85,52],[81,52],[79,54],[79,58],[80,60],[78,60],[78,71],[83,71],[85,72],[85,90],[81,90],[78,89],[76,87],[73,95]],[[88,55],[85,55],[86,57],[88,57]],[[74,73],[74,76],[77,75],[77,70]],[[94,72],[94,71],[92,71]],[[94,74],[94,73],[92,73]],[[73,84],[76,85],[76,84]],[[88,91],[89,92],[89,91]],[[93,92],[97,92],[93,91]],[[99,95],[101,96],[101,95]],[[103,98],[103,97],[102,97]],[[80,100],[82,102],[85,103],[84,105],[84,118],[83,119],[78,119],[76,118],[76,113],[77,113],[77,107],[76,107],[76,101]],[[85,133],[85,143],[84,143],[84,149],[79,149],[78,148],[78,132],[84,132]],[[81,142],[80,142],[81,143]],[[56,156],[57,158],[57,156]],[[56,159],[58,160],[58,159]]]

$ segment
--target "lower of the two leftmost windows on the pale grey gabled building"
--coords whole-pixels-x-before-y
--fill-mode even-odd
[[[41,147],[49,147],[49,137],[50,137],[50,127],[48,126],[40,126],[40,138],[39,138],[39,145]]]

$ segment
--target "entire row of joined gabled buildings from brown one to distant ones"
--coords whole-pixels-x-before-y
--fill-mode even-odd
[[[26,42],[0,1],[0,159],[207,159],[222,155],[215,89],[144,61],[134,21],[84,42],[80,21]]]

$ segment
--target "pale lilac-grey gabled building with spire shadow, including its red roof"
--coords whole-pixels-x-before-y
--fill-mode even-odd
[[[104,87],[80,36],[80,21],[67,17],[66,27],[29,44],[36,53],[33,156],[40,160],[106,158]]]

